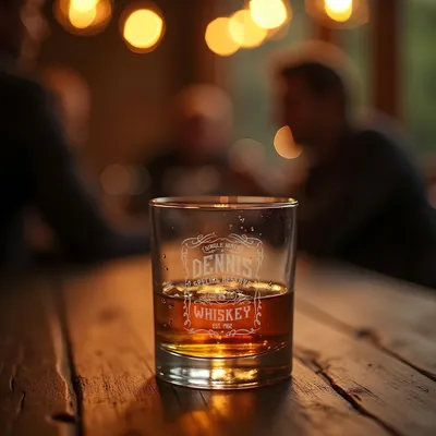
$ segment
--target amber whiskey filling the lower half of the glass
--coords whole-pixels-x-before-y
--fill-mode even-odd
[[[155,289],[157,346],[196,358],[239,358],[292,342],[293,292],[241,281]]]

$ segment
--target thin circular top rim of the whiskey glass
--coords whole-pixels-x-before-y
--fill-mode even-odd
[[[291,197],[275,196],[172,196],[158,197],[149,201],[152,207],[177,208],[177,209],[280,209],[296,207],[299,203]]]

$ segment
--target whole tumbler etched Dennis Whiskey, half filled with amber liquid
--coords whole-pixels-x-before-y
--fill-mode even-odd
[[[150,201],[157,377],[239,389],[290,376],[296,205],[277,197]]]

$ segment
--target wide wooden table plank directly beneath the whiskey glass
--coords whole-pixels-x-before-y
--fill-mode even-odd
[[[86,435],[387,435],[295,361],[292,382],[197,391],[153,376],[149,264],[113,264],[65,281]]]

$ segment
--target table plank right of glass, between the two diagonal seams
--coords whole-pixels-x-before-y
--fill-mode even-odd
[[[391,434],[436,434],[436,384],[372,343],[296,312],[294,351]]]

